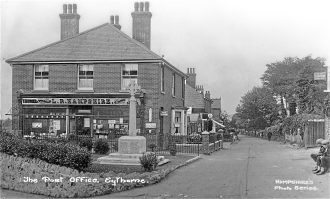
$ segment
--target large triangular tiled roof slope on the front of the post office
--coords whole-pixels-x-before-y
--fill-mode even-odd
[[[143,44],[106,23],[34,51],[7,60],[12,62],[160,60]]]

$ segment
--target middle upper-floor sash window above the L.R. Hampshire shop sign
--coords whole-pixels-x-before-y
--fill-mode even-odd
[[[93,65],[79,65],[79,90],[93,90],[94,66]]]

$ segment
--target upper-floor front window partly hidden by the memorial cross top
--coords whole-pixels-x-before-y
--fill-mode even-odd
[[[137,77],[138,64],[125,64],[122,68],[122,90],[125,90],[130,83],[137,84]]]

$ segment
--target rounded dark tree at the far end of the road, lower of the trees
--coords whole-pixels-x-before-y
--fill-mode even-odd
[[[254,87],[236,108],[240,125],[253,130],[264,129],[278,119],[278,106],[270,89]]]

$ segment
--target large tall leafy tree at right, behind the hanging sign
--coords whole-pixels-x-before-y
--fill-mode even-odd
[[[278,97],[284,115],[290,115],[289,104],[298,106],[300,112],[316,113],[322,109],[325,83],[314,81],[313,78],[315,72],[325,70],[323,66],[322,58],[288,57],[283,61],[267,64],[261,81],[264,87]],[[295,107],[291,107],[291,110],[295,112]]]

